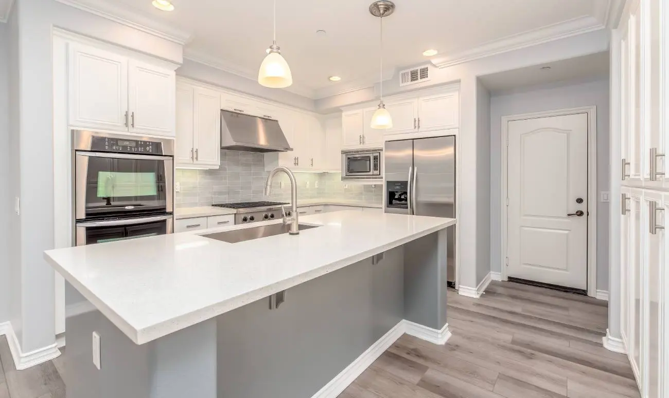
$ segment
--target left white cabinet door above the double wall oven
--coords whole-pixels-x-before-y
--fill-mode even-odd
[[[127,132],[128,59],[70,44],[68,63],[70,126]]]

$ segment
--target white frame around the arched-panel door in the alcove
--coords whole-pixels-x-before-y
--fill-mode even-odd
[[[502,280],[508,280],[506,276],[506,262],[508,258],[508,123],[516,120],[549,118],[551,116],[567,116],[574,114],[587,114],[587,294],[597,296],[597,107],[583,106],[579,108],[568,108],[563,110],[552,110],[544,112],[533,112],[502,116],[502,145],[501,145],[501,169],[502,184],[500,196],[501,222],[500,236],[502,237],[501,258],[499,258]]]

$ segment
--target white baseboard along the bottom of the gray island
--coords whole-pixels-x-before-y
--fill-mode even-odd
[[[399,321],[397,325],[390,329],[388,333],[377,340],[362,355],[357,357],[351,365],[341,371],[339,375],[330,380],[322,389],[315,393],[311,398],[337,398],[343,391],[349,387],[355,379],[358,378],[377,358],[383,354],[397,339],[404,333],[415,336],[419,339],[429,341],[430,343],[444,345],[451,337],[448,330],[448,323],[441,330],[432,329],[407,320]]]

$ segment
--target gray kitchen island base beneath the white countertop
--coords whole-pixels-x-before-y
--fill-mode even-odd
[[[448,339],[450,229],[292,286],[276,309],[263,298],[142,345],[100,311],[69,317],[67,397],[337,397],[403,333]]]

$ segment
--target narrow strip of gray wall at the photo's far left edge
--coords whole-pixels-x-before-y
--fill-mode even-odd
[[[9,321],[9,25],[0,23],[0,323]]]

